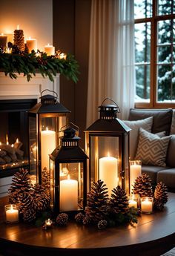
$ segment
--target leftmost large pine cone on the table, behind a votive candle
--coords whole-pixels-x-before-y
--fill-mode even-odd
[[[31,188],[32,185],[28,171],[24,168],[20,168],[19,172],[16,172],[12,178],[12,183],[9,189],[10,203],[18,203],[19,195],[31,191]]]

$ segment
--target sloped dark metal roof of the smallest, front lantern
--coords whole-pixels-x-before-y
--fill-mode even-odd
[[[57,147],[52,154],[50,154],[52,160],[85,160],[87,159],[87,154],[82,150],[82,148],[64,148]]]

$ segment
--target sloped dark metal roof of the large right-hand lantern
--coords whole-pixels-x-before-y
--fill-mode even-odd
[[[85,132],[94,131],[94,132],[114,132],[114,133],[128,133],[131,131],[131,128],[128,125],[125,125],[122,120],[119,118],[114,119],[97,119],[90,125]]]

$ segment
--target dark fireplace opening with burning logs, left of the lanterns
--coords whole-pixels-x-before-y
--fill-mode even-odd
[[[27,111],[37,99],[0,100],[0,177],[29,166]]]

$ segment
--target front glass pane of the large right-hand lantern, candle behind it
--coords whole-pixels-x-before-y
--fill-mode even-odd
[[[119,184],[119,137],[90,137],[90,183],[103,180],[109,195]]]

